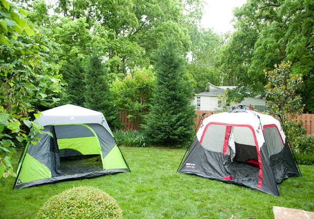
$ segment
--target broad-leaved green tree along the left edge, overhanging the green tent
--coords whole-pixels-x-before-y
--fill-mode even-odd
[[[4,185],[3,177],[15,176],[10,160],[15,142],[31,141],[31,136],[43,133],[30,116],[40,116],[38,105],[51,106],[59,100],[62,76],[54,64],[58,47],[45,29],[36,29],[25,11],[11,2],[3,0],[0,6],[0,182]]]

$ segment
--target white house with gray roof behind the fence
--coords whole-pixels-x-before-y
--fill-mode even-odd
[[[201,111],[215,111],[220,109],[221,106],[218,101],[218,96],[223,94],[224,89],[233,89],[235,86],[215,86],[209,83],[209,92],[202,92],[194,95],[194,99],[191,101],[192,105],[196,105],[197,110]],[[245,97],[241,103],[232,103],[233,105],[252,105],[260,109],[265,109],[267,100],[254,98],[254,97]]]

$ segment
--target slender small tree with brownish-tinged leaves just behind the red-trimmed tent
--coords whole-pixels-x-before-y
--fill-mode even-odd
[[[302,115],[303,107],[300,94],[296,93],[299,86],[302,85],[302,77],[293,74],[291,70],[292,63],[281,62],[275,65],[271,71],[264,70],[268,81],[265,86],[267,106],[271,112],[281,115],[288,139],[294,149],[296,149],[298,138],[302,132],[302,121],[294,122],[297,115]]]

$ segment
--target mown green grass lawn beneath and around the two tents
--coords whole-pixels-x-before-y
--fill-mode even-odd
[[[34,218],[53,195],[93,186],[111,195],[124,218],[273,218],[272,206],[314,211],[314,166],[280,185],[280,197],[221,181],[177,173],[185,149],[121,148],[132,172],[12,190],[0,189],[0,218]],[[13,158],[17,165],[21,152]],[[224,216],[223,216],[224,215]]]

